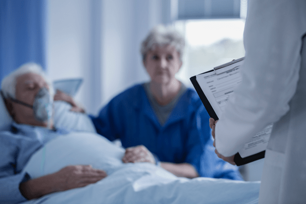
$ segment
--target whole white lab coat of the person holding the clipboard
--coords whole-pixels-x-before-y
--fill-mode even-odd
[[[215,134],[219,153],[232,156],[274,122],[259,203],[306,202],[305,34],[306,0],[248,1],[243,80]]]

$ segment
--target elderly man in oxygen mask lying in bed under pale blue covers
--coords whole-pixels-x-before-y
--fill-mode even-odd
[[[55,129],[52,87],[36,64],[17,69],[3,80],[1,89],[14,121],[0,131],[0,203],[250,203],[258,199],[260,183],[188,180],[149,163],[124,164],[124,149],[106,138]]]

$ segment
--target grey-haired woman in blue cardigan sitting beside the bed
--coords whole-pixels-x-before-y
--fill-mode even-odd
[[[198,95],[175,78],[184,45],[170,27],[153,29],[141,44],[150,81],[123,91],[90,117],[98,134],[121,140],[123,162],[151,162],[189,178],[241,180],[237,167],[215,155],[209,115]]]

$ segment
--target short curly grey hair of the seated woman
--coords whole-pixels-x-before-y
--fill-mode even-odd
[[[145,61],[146,54],[149,50],[154,50],[156,46],[161,45],[172,45],[175,47],[176,51],[180,54],[180,59],[182,61],[183,51],[185,47],[184,37],[177,32],[173,27],[165,25],[157,25],[154,27],[141,43],[140,52],[142,55],[142,60]]]

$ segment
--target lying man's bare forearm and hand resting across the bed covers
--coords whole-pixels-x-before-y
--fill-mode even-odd
[[[104,179],[107,173],[90,165],[67,166],[61,170],[19,185],[21,194],[34,199],[49,193],[80,188]]]

